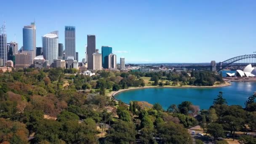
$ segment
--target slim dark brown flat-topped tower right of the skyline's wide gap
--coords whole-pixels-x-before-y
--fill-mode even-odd
[[[96,52],[96,37],[95,35],[87,35],[88,69],[93,69],[93,53],[95,52]]]

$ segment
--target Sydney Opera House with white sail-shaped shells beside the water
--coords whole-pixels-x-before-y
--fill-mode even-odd
[[[256,77],[256,68],[252,67],[251,64],[247,65],[245,69],[236,70],[236,73],[226,73],[227,77]]]

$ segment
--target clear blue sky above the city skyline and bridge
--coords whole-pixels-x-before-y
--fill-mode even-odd
[[[87,35],[96,48],[112,46],[125,62],[210,62],[256,51],[256,0],[2,0],[8,42],[22,44],[22,28],[36,22],[42,36],[76,27],[79,61]]]

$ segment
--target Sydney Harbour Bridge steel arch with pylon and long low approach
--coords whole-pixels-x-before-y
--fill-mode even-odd
[[[251,64],[256,66],[256,54],[248,54],[243,56],[236,56],[222,62],[211,61],[210,65],[188,65],[188,66],[174,66],[183,68],[210,68],[212,71],[219,71],[227,67],[243,67]]]

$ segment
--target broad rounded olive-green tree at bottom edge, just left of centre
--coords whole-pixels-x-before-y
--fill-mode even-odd
[[[107,134],[105,143],[107,144],[131,144],[135,143],[135,126],[123,120],[117,120],[112,124]]]

